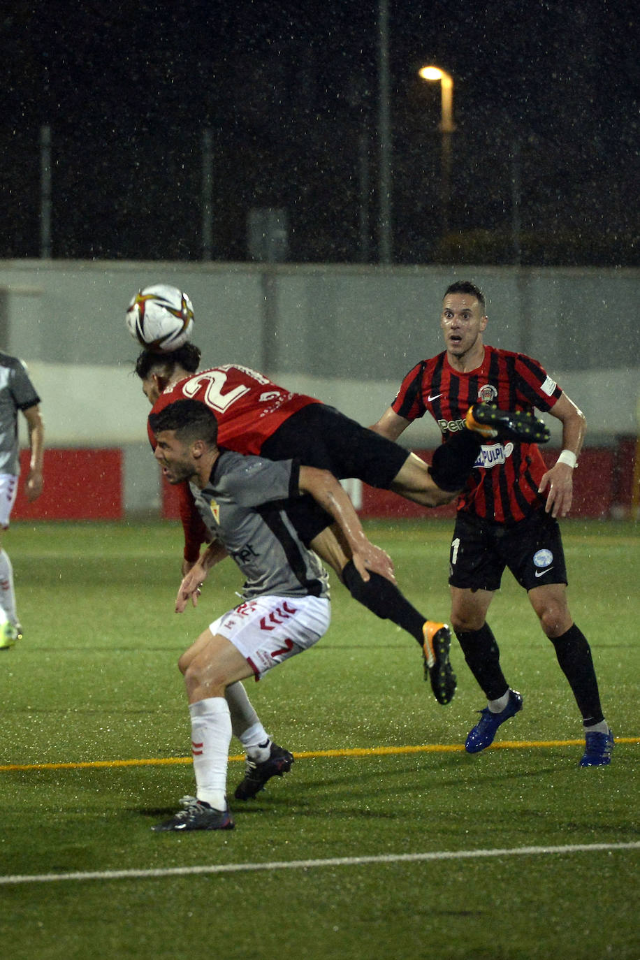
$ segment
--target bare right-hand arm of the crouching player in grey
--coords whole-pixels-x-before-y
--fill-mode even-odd
[[[300,467],[298,486],[300,491],[311,493],[320,507],[333,516],[363,580],[369,579],[368,569],[395,583],[391,557],[367,539],[351,500],[333,473],[315,467]]]

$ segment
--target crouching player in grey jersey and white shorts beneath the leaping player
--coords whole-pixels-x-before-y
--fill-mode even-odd
[[[329,626],[326,571],[297,536],[286,502],[310,493],[338,524],[363,579],[368,570],[391,576],[391,560],[367,540],[328,470],[221,450],[215,416],[198,400],[178,400],[152,414],[150,424],[156,460],[169,483],[189,481],[211,535],[180,584],[176,610],[182,612],[189,600],[197,604],[208,570],[227,555],[246,577],[242,603],[211,623],[178,661],[191,714],[197,791],[154,830],[231,829],[228,692],[313,646]]]

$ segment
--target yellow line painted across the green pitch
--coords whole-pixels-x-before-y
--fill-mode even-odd
[[[488,750],[528,750],[536,747],[573,747],[582,746],[584,740],[503,740],[494,743]],[[616,737],[616,743],[640,744],[640,737]],[[464,750],[461,744],[430,743],[409,747],[355,747],[344,750],[309,750],[295,753],[296,759],[316,759],[321,756],[391,756],[394,754],[454,754]],[[244,755],[229,756],[231,762],[244,760]],[[191,763],[190,756],[155,756],[146,759],[131,760],[84,760],[78,763],[9,763],[0,766],[0,773],[15,770],[83,770],[101,767],[157,767],[177,763]]]

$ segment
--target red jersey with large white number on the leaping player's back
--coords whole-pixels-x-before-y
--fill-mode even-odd
[[[218,444],[236,453],[259,454],[262,444],[277,428],[302,407],[320,400],[305,394],[293,394],[278,387],[263,373],[249,367],[212,367],[179,380],[160,394],[152,413],[159,413],[176,400],[201,400],[218,420]],[[147,432],[152,446],[155,438],[149,423]],[[201,543],[209,540],[196,510],[189,485],[177,485],[178,510],[184,531],[184,559],[198,559]]]

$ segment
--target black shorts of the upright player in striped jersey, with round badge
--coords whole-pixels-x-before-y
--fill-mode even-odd
[[[449,564],[449,583],[461,589],[499,589],[506,566],[526,590],[567,583],[560,528],[544,510],[511,524],[459,513]]]

